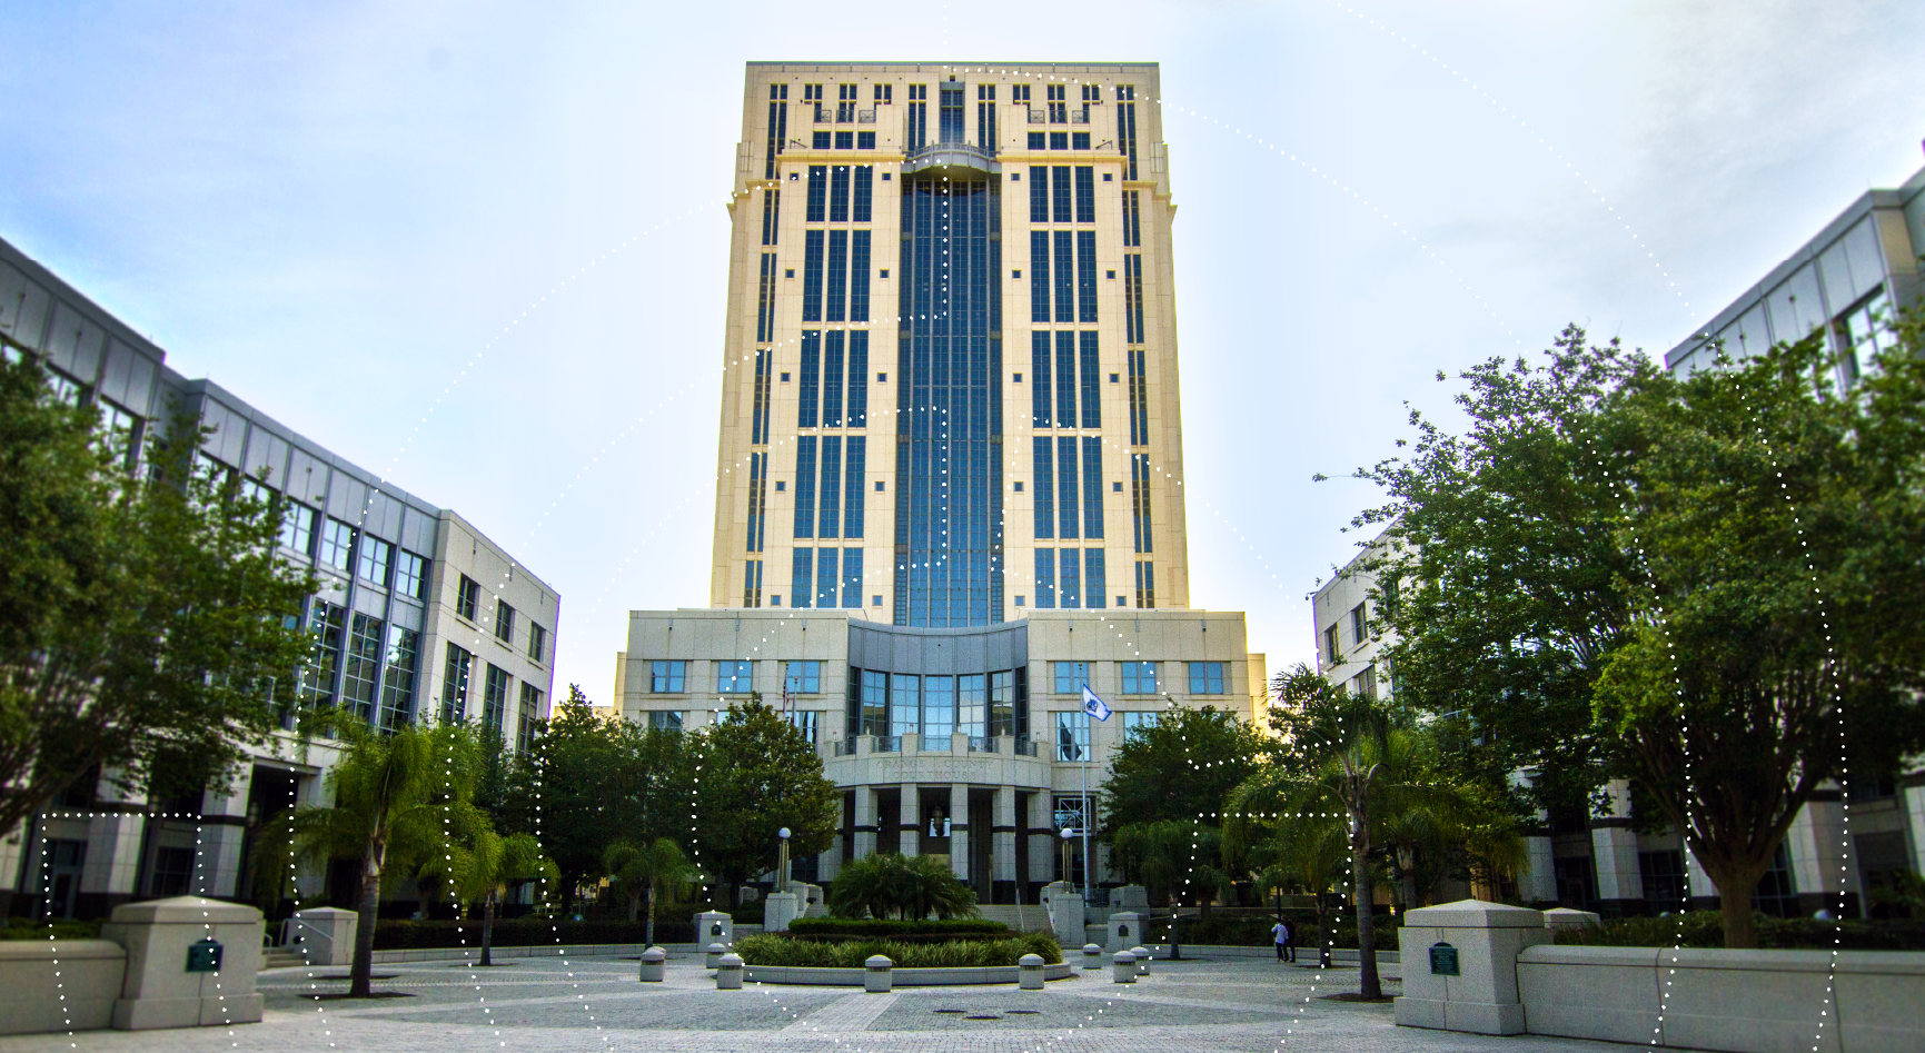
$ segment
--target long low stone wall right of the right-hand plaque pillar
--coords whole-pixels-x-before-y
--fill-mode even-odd
[[[1731,1053],[1925,1049],[1925,955],[1527,947],[1530,1034]],[[1836,978],[1836,989],[1829,991]]]

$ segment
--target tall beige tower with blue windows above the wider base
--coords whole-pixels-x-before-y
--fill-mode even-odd
[[[1157,98],[1155,64],[749,64],[712,606],[1190,604]]]

